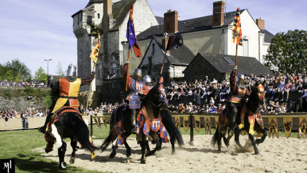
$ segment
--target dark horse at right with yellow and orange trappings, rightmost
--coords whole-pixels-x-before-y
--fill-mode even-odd
[[[267,131],[263,128],[263,120],[261,118],[261,114],[259,113],[260,105],[265,104],[265,93],[262,84],[256,84],[256,87],[251,91],[251,95],[249,95],[249,100],[246,104],[243,105],[242,109],[238,110],[238,115],[235,118],[235,124],[238,127],[235,127],[234,134],[235,134],[235,143],[242,148],[239,142],[239,136],[242,132],[248,133],[249,138],[251,140],[251,144],[254,146],[255,154],[260,154],[256,144],[263,143],[265,137],[267,136]],[[227,116],[231,114],[228,112],[229,109],[224,109],[219,114],[219,122],[217,125],[217,129],[213,138],[211,139],[211,145],[215,146],[217,144],[218,151],[221,151],[221,139],[223,138],[224,143],[226,146],[229,146],[229,140],[232,136],[229,136],[227,139],[225,137],[226,131],[231,129],[229,127],[229,121],[231,121],[231,117]],[[256,115],[255,115],[256,114]],[[256,118],[255,118],[256,116]],[[254,131],[258,133],[255,137],[261,137],[260,139],[254,139]]]

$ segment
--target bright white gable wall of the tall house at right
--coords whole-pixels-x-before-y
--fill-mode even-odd
[[[242,14],[240,14],[241,18],[241,27],[242,27],[242,37],[246,37],[249,40],[249,57],[256,57],[258,60],[259,57],[259,31],[260,29],[256,25],[256,22],[253,18],[249,15],[249,12],[247,10],[244,10]],[[235,55],[235,44],[231,42],[231,30],[232,28],[229,27],[227,30],[227,44],[228,47],[227,52],[225,54],[228,55]],[[238,55],[242,56],[242,46],[238,46]],[[238,64],[239,65],[239,64]]]

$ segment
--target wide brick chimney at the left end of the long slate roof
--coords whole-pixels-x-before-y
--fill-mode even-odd
[[[176,33],[178,31],[178,11],[167,10],[164,13],[164,33]]]

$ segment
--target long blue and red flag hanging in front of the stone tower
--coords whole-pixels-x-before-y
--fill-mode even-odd
[[[126,38],[128,39],[131,52],[132,52],[132,46],[133,46],[135,57],[141,57],[141,49],[138,45],[138,40],[135,37],[135,30],[134,30],[134,24],[133,24],[133,5],[131,6],[131,9],[130,9],[130,15],[129,15],[128,24],[127,24]]]

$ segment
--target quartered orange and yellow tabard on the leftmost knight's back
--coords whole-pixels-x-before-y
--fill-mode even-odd
[[[78,98],[78,93],[81,86],[81,78],[77,78],[74,82],[69,82],[66,78],[60,78],[60,95],[67,97]],[[58,98],[56,106],[52,113],[60,109],[67,102],[68,98]],[[78,110],[78,99],[69,99],[70,107]]]

